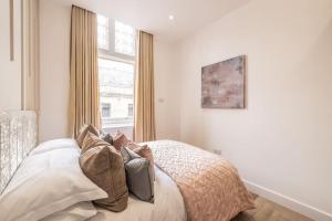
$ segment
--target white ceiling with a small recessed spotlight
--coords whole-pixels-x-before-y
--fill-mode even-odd
[[[177,42],[249,0],[61,0]],[[174,20],[168,17],[174,15]]]

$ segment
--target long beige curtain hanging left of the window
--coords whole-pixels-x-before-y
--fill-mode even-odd
[[[100,128],[96,14],[72,7],[70,136],[76,137],[84,124]]]

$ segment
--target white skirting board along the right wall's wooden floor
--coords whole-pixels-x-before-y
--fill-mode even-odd
[[[261,187],[248,180],[243,180],[243,182],[249,191],[262,196],[268,200],[277,202],[303,215],[307,215],[308,218],[311,218],[315,221],[332,221],[332,214],[324,212],[318,208],[302,203],[298,200],[283,196],[268,188]]]

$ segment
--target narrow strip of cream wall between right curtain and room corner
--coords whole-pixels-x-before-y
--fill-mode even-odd
[[[155,112],[157,139],[179,139],[179,76],[174,45],[155,40]]]

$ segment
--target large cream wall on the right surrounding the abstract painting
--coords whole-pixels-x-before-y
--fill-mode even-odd
[[[180,139],[220,149],[248,183],[308,215],[331,215],[332,1],[251,0],[179,48]],[[240,54],[248,107],[200,108],[200,67]]]

